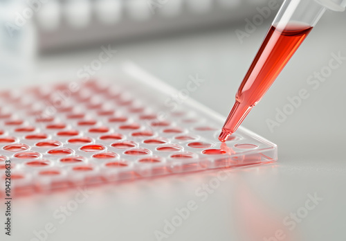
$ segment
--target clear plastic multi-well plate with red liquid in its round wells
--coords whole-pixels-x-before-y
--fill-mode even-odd
[[[12,194],[24,195],[277,160],[275,144],[242,127],[219,142],[224,118],[190,99],[173,108],[174,93],[129,63],[95,80],[1,91],[0,177],[10,160]]]

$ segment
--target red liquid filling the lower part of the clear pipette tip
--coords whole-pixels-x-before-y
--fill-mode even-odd
[[[228,136],[237,130],[248,112],[271,87],[311,29],[311,26],[304,24],[289,24],[283,30],[271,26],[237,91],[235,105],[222,128],[220,141],[226,141]]]

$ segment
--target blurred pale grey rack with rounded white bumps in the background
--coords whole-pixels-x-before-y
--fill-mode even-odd
[[[39,51],[49,52],[244,23],[275,0],[41,1]]]

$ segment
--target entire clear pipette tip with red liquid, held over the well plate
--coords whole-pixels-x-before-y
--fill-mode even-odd
[[[262,99],[325,10],[343,11],[346,0],[285,0],[235,96],[219,135],[226,141]]]

